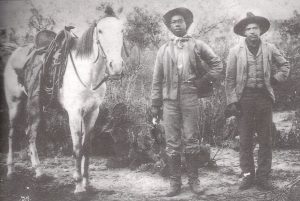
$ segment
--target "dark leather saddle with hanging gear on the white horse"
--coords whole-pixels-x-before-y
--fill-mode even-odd
[[[37,33],[22,72],[16,72],[29,100],[39,97],[42,106],[57,100],[68,52],[73,44],[72,28],[65,27],[58,34],[50,30]]]

